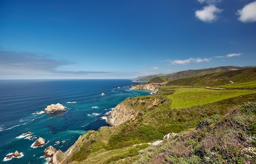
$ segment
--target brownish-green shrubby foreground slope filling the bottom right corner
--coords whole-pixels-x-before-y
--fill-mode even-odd
[[[135,161],[136,160],[136,161]],[[141,151],[120,163],[256,163],[256,103],[231,109],[225,116],[213,115],[197,129],[171,136],[162,144]]]

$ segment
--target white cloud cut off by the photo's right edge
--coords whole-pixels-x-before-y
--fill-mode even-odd
[[[244,23],[256,22],[256,1],[249,3],[237,11],[240,17],[238,20]]]

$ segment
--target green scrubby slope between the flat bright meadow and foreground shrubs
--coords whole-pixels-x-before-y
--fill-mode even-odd
[[[205,90],[204,92],[211,93],[212,90]],[[175,92],[173,95],[175,95]],[[195,97],[195,99],[201,96],[201,94],[197,95],[198,97]],[[112,163],[124,158],[135,162],[132,160],[133,157],[137,160],[136,157],[138,157],[139,152],[149,146],[147,143],[162,140],[163,136],[171,132],[181,133],[195,128],[203,118],[216,114],[227,114],[228,109],[234,107],[234,105],[241,105],[245,101],[256,101],[256,94],[247,94],[209,104],[177,109],[172,107],[171,99],[163,95],[162,98],[165,101],[162,104],[146,108],[145,106],[150,106],[146,104],[148,97],[152,98],[153,96],[128,98],[126,104],[132,105],[140,112],[137,119],[117,127],[101,127],[98,131],[89,131],[85,134],[79,146],[74,149],[71,154],[72,157],[67,157],[63,163],[72,161]],[[180,98],[186,99],[187,97],[184,94]]]

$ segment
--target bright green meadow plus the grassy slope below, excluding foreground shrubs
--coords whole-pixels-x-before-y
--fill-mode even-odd
[[[210,90],[204,87],[174,86],[161,88],[165,94],[127,98],[124,104],[138,108],[140,114],[136,120],[117,127],[102,127],[83,136],[83,143],[74,151],[71,161],[115,163],[124,158],[132,161],[137,159],[140,150],[148,147],[148,142],[162,140],[164,135],[171,132],[180,133],[193,129],[198,123],[204,125],[200,120],[207,116],[212,116],[214,122],[216,114],[227,114],[228,109],[234,105],[256,101],[254,90]],[[173,94],[168,95],[164,90],[172,91]],[[157,100],[160,100],[158,105],[150,105]],[[256,133],[256,124],[248,130]],[[134,147],[134,144],[143,145]]]

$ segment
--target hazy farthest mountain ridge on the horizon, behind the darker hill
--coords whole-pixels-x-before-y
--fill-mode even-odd
[[[216,68],[205,68],[205,69],[200,69],[200,70],[185,70],[185,71],[173,72],[173,73],[169,73],[169,74],[155,74],[155,75],[148,75],[148,76],[140,76],[133,80],[148,82],[148,81],[150,81],[150,79],[153,79],[155,77],[166,77],[166,78],[169,78],[172,80],[176,80],[176,79],[183,79],[183,78],[188,78],[188,77],[204,76],[206,74],[224,72],[224,71],[229,71],[229,70],[242,70],[242,69],[245,69],[248,67],[251,67],[251,66],[246,66],[246,67],[220,66],[220,67],[216,67]]]

